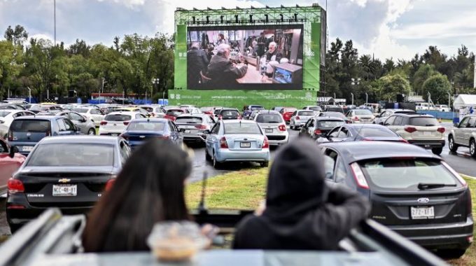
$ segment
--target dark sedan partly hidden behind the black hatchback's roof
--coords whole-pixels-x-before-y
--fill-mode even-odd
[[[318,143],[328,141],[398,141],[408,143],[395,132],[388,130],[387,127],[374,124],[340,125],[317,140]]]

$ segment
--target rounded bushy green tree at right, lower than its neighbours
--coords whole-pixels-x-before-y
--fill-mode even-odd
[[[423,83],[423,99],[428,101],[428,92],[431,100],[436,104],[448,102],[448,92],[451,93],[451,86],[447,76],[436,73]]]

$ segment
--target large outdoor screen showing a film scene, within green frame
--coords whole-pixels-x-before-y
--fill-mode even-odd
[[[189,90],[302,90],[302,25],[188,27]]]

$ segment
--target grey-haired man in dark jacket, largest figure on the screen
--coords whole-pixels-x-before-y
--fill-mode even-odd
[[[230,50],[228,44],[218,45],[216,55],[211,57],[206,75],[211,78],[209,83],[223,86],[223,89],[230,84],[238,83],[237,78],[242,78],[248,69],[246,64],[238,67],[230,61]]]

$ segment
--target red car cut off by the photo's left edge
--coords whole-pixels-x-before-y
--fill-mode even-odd
[[[25,162],[25,158],[25,155],[18,153],[18,148],[10,148],[6,141],[0,138],[0,195],[6,193],[8,180]]]

